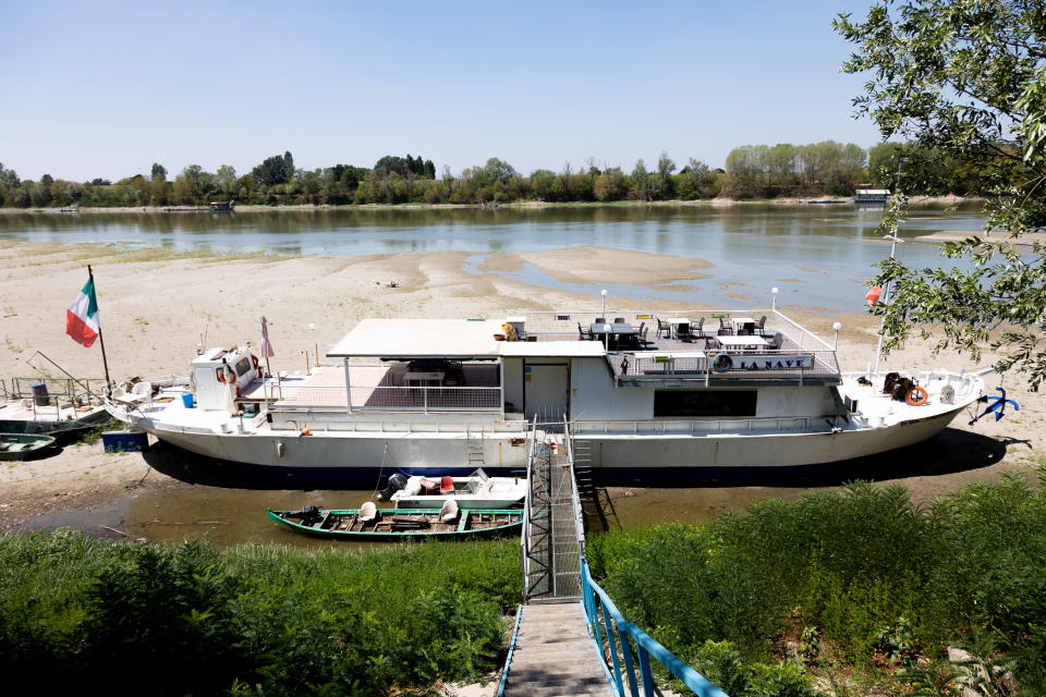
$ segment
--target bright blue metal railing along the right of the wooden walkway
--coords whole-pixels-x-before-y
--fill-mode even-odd
[[[653,639],[646,632],[624,621],[621,612],[610,600],[607,591],[592,579],[588,564],[581,560],[581,578],[585,615],[592,632],[592,640],[600,656],[610,653],[610,665],[605,665],[613,694],[627,697],[624,682],[632,697],[654,697],[654,676],[650,673],[650,657],[681,680],[700,697],[727,697],[727,694],[709,683],[701,673],[684,663],[674,653]],[[633,658],[634,653],[634,658]],[[635,659],[638,659],[640,677],[636,678]]]

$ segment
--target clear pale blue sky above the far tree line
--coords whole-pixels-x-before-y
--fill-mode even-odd
[[[441,171],[630,171],[664,150],[878,140],[850,100],[854,2],[0,0],[0,162],[23,179],[422,155]]]

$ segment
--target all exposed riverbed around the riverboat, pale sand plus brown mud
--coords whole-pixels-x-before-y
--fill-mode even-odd
[[[378,255],[340,258],[223,257],[160,249],[120,250],[98,245],[0,243],[0,377],[39,375],[45,352],[76,376],[101,376],[96,344],[83,348],[64,334],[65,308],[94,266],[101,325],[114,379],[187,371],[202,335],[208,345],[260,341],[258,317],[269,320],[275,369],[304,369],[313,356],[308,325],[316,325],[320,353],[364,317],[503,317],[512,309],[600,307],[601,298],[509,280],[501,269],[542,261],[554,278],[612,278],[637,286],[686,278],[700,271],[693,259],[582,247],[545,260],[492,255],[474,274],[462,269],[469,254]],[[583,271],[579,270],[583,267]],[[685,268],[684,268],[685,267]],[[390,288],[389,282],[397,286]],[[616,307],[652,309],[631,298]],[[666,310],[678,308],[659,303]],[[692,307],[692,306],[688,306]],[[863,370],[875,350],[874,318],[862,314],[819,315],[781,308],[827,340],[840,333],[842,368]],[[608,307],[608,311],[612,311]],[[969,367],[962,356],[933,357],[913,342],[885,366]],[[53,374],[53,370],[49,372]],[[994,393],[998,376],[988,376]],[[903,454],[849,463],[832,476],[759,487],[702,489],[609,489],[601,512],[589,522],[632,526],[665,519],[702,521],[769,497],[795,499],[811,489],[839,486],[855,477],[896,481],[916,498],[941,496],[1004,472],[1026,472],[1043,457],[1043,400],[1009,378],[1021,412],[974,427],[960,416],[940,437]],[[0,528],[53,529],[69,525],[110,537],[181,540],[207,535],[219,545],[279,541],[308,546],[277,528],[265,508],[303,503],[352,506],[370,490],[287,491],[247,488],[224,480],[212,463],[175,449],[106,454],[101,443],[65,448],[27,463],[0,464]],[[114,531],[115,530],[115,531]]]

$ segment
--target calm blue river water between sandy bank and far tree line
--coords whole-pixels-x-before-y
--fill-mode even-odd
[[[531,265],[508,272],[534,285],[598,296],[732,306],[779,301],[820,311],[856,311],[873,264],[889,255],[876,227],[883,210],[842,205],[576,206],[497,209],[331,209],[234,213],[24,213],[0,216],[0,239],[99,243],[289,256],[356,256],[471,252],[464,269],[491,254],[597,245],[695,257],[710,262],[700,278],[647,289],[607,282],[564,283]],[[977,207],[916,208],[901,236],[944,230],[975,232]],[[902,245],[910,266],[941,262],[937,246]],[[840,292],[840,283],[843,291]]]

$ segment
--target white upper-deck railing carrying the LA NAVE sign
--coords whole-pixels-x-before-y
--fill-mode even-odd
[[[835,351],[715,350],[693,353],[635,352],[608,356],[615,376],[630,380],[695,380],[706,386],[738,380],[838,378]]]

